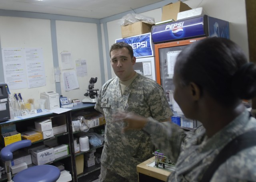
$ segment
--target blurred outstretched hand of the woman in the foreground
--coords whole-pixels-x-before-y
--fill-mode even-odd
[[[118,114],[113,115],[113,121],[125,121],[128,124],[127,127],[124,127],[122,129],[123,132],[129,129],[142,129],[146,125],[146,123],[148,123],[148,119],[146,117],[142,117],[131,112],[119,112]]]

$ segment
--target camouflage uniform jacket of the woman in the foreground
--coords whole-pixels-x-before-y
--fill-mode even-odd
[[[152,133],[150,137],[156,147],[176,162],[176,171],[170,174],[168,182],[199,182],[220,150],[236,136],[251,129],[256,129],[256,119],[249,118],[249,112],[245,111],[210,139],[206,137],[204,127],[197,129],[188,139],[178,125],[156,123],[152,118],[143,130]],[[180,146],[186,147],[180,151]],[[256,182],[256,147],[230,157],[220,165],[210,181]]]

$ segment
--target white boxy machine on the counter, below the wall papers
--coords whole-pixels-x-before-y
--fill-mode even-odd
[[[46,100],[44,107],[48,110],[60,108],[59,94],[54,91],[42,92],[40,98]]]

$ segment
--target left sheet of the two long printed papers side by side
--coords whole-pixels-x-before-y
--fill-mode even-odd
[[[4,82],[10,90],[27,88],[23,48],[2,48]]]

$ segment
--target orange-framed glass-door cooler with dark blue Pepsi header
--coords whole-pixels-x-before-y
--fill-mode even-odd
[[[156,81],[162,85],[175,115],[183,117],[181,126],[194,128],[196,124],[184,118],[178,104],[173,99],[173,74],[176,57],[186,47],[205,37],[224,37],[229,39],[227,21],[204,15],[177,22],[154,25],[151,29],[155,44]],[[186,121],[186,122],[185,122]]]

